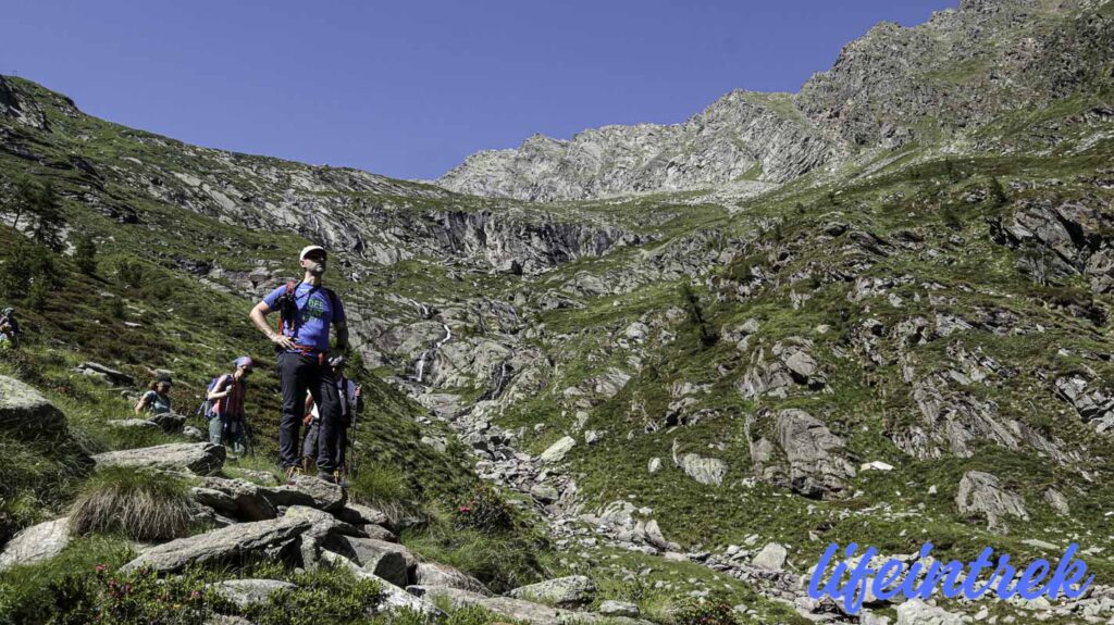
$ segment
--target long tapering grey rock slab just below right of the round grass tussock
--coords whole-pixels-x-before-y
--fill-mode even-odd
[[[310,522],[299,518],[238,523],[146,549],[120,571],[149,568],[176,573],[192,564],[236,560],[280,546],[310,526]]]

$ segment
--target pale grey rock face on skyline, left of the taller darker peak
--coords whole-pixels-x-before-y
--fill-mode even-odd
[[[561,141],[469,157],[438,180],[459,192],[568,200],[684,190],[736,179],[783,182],[831,159],[837,143],[797,113],[793,96],[732,91],[683,123],[606,126]]]

